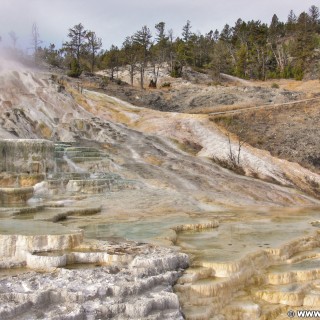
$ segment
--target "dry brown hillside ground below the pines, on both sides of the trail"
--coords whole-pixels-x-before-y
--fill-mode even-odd
[[[271,80],[243,84],[225,79],[215,85],[176,79],[166,82],[170,83],[169,88],[146,90],[109,83],[103,91],[134,105],[160,111],[203,114],[266,106],[262,110],[214,116],[212,120],[256,148],[320,173],[319,100],[268,108],[319,97],[319,81]]]

